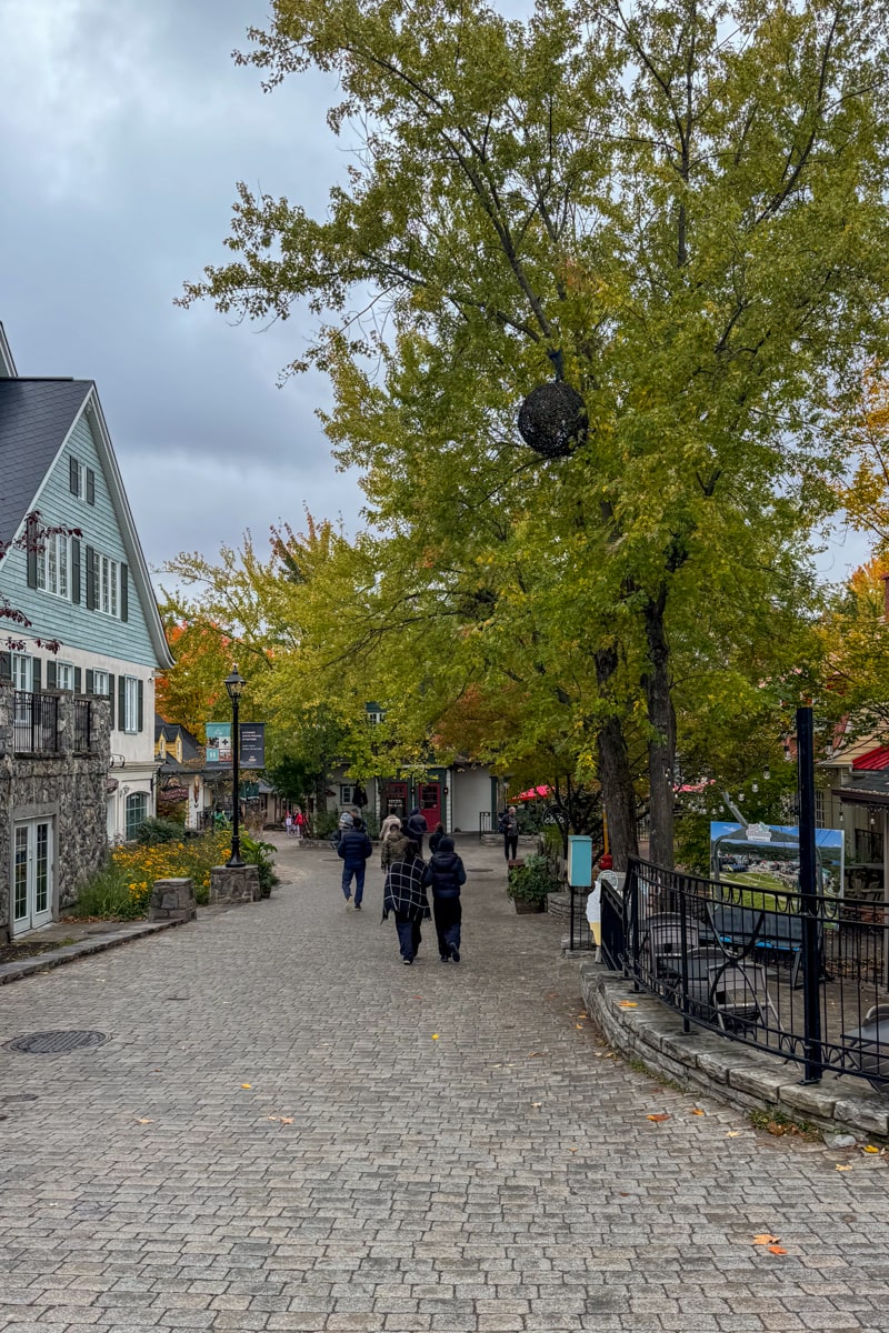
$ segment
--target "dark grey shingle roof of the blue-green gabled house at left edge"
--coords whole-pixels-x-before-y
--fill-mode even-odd
[[[92,387],[0,379],[0,541],[15,536]]]

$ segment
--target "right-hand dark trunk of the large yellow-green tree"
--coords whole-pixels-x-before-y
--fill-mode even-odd
[[[670,697],[670,649],[664,611],[666,588],[645,605],[645,635],[649,669],[644,678],[648,721],[653,736],[648,742],[648,782],[650,792],[652,837],[649,860],[673,869],[673,788],[676,782],[676,713]]]

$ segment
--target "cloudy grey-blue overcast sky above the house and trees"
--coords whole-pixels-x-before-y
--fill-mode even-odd
[[[95,379],[145,555],[213,555],[244,528],[343,516],[319,376],[276,388],[309,325],[173,307],[224,260],[235,183],[321,212],[343,171],[307,75],[264,96],[237,68],[267,0],[0,0],[0,319],[21,375]],[[837,533],[830,579],[865,552]]]

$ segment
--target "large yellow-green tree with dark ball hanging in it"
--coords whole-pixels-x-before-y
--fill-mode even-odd
[[[252,40],[240,59],[269,85],[336,75],[329,123],[355,152],[320,220],[241,185],[233,260],[183,300],[257,319],[308,303],[319,336],[295,368],[331,371],[328,427],[375,521],[429,535],[413,584],[428,600],[488,572],[488,620],[521,623],[557,698],[546,640],[586,659],[618,861],[641,706],[669,864],[676,652],[714,669],[696,613],[756,616],[764,572],[805,545],[841,461],[822,405],[885,352],[882,7],[553,0],[510,21],[464,0],[275,0]],[[588,428],[517,477],[514,411],[550,373]],[[549,580],[524,579],[534,555]]]

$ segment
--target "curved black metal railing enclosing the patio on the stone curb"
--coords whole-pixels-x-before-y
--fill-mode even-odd
[[[629,864],[602,890],[602,953],[637,989],[805,1065],[889,1085],[889,908]]]

